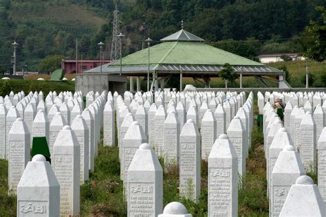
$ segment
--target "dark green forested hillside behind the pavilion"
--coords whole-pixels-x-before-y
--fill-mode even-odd
[[[305,52],[310,21],[323,24],[323,0],[0,0],[0,71],[10,69],[12,41],[19,43],[18,69],[38,70],[49,55],[109,58],[113,10],[118,3],[123,54],[142,49],[181,28],[215,47],[254,59],[259,54]],[[72,8],[72,11],[68,9]],[[67,11],[65,11],[67,10]]]

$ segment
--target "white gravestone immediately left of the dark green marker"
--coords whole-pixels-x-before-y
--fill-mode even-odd
[[[30,161],[30,131],[23,118],[18,117],[9,132],[8,185],[9,193],[16,194],[25,166]]]

